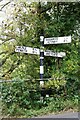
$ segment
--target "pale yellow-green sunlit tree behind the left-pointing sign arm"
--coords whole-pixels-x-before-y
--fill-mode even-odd
[[[33,24],[31,23],[31,21],[29,21],[29,18],[28,18],[31,16],[31,14],[29,16],[29,14],[27,13],[28,10],[26,10],[26,12],[25,12],[25,10],[24,10],[24,12],[22,12],[22,10],[21,10],[21,9],[25,9],[24,6],[26,6],[26,5],[27,4],[24,2],[21,4],[16,4],[16,6],[14,7],[14,10],[13,10],[12,19],[10,19],[10,20],[8,19],[5,23],[3,23],[3,31],[4,32],[2,31],[2,33],[1,33],[2,34],[1,49],[4,52],[1,52],[1,56],[3,56],[7,51],[6,56],[2,57],[2,61],[1,61],[1,66],[4,71],[4,72],[2,72],[2,74],[3,74],[2,77],[4,77],[4,78],[7,74],[10,76],[10,74],[15,69],[16,69],[16,71],[19,72],[19,74],[22,74],[22,72],[20,72],[19,69],[23,68],[23,69],[25,69],[25,73],[26,73],[27,66],[25,65],[25,62],[27,61],[28,64],[31,63],[31,62],[29,62],[30,59],[31,59],[30,61],[33,61],[33,63],[36,64],[36,62],[35,62],[36,56],[33,55],[33,58],[31,56],[25,55],[25,54],[20,56],[19,53],[14,52],[16,44],[18,44],[18,45],[26,44],[26,45],[31,46],[33,39],[34,39],[33,38],[34,37]],[[18,9],[16,10],[17,7],[18,7]],[[28,5],[28,9],[30,9],[29,5]],[[26,18],[25,15],[27,15],[26,21],[25,21],[25,18]],[[33,18],[32,18],[32,20],[33,20]],[[26,34],[26,32],[27,32],[27,34]],[[4,40],[4,37],[5,37],[5,40]],[[31,40],[31,38],[32,38],[32,40]],[[21,39],[23,40],[22,42],[20,42]],[[29,42],[30,41],[29,39],[31,40],[31,42]],[[14,44],[11,41],[13,41]],[[22,58],[23,58],[23,60],[21,61]],[[9,64],[9,63],[11,63],[11,64]],[[18,68],[18,70],[17,70],[17,68]],[[28,67],[28,68],[30,68],[30,67]],[[13,73],[13,75],[14,74],[15,73]],[[28,73],[26,73],[26,74],[28,74]],[[17,75],[17,72],[16,72],[16,75]],[[24,75],[24,76],[26,76],[26,75]]]

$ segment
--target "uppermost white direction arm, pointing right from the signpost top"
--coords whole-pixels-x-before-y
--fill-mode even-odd
[[[71,36],[45,38],[44,44],[62,44],[71,43]]]

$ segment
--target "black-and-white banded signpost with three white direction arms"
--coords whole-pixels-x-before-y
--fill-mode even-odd
[[[44,75],[44,56],[52,56],[52,57],[65,57],[65,52],[53,52],[51,50],[44,51],[44,44],[62,44],[62,43],[71,43],[71,36],[65,37],[52,37],[52,38],[44,38],[44,36],[40,36],[41,49],[25,47],[25,46],[16,46],[15,52],[21,53],[29,53],[40,55],[40,85],[44,85],[43,75]]]

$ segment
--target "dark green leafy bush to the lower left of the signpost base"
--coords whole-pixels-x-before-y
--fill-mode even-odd
[[[2,84],[3,112],[5,107],[10,115],[18,114],[20,109],[31,109],[40,107],[40,93],[37,92],[35,81],[24,81]]]

